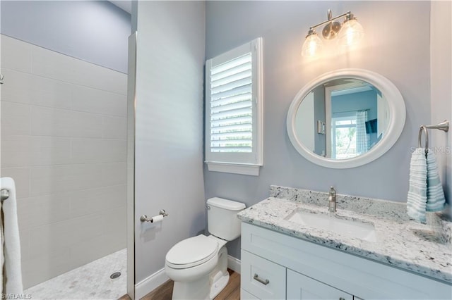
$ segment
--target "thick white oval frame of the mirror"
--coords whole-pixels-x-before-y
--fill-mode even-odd
[[[384,133],[381,140],[372,147],[367,153],[354,158],[347,158],[341,160],[335,160],[331,158],[326,158],[314,154],[309,150],[297,137],[295,132],[295,118],[297,117],[297,111],[302,104],[302,101],[309,92],[311,92],[314,87],[318,85],[323,85],[330,80],[343,79],[343,78],[356,78],[358,80],[363,80],[374,85],[380,92],[384,95],[389,107],[389,122],[386,132]],[[335,169],[345,169],[345,168],[355,168],[359,165],[365,165],[371,161],[376,160],[383,154],[386,153],[393,144],[396,143],[397,139],[402,133],[403,126],[405,125],[405,102],[403,101],[403,96],[400,94],[398,88],[386,77],[379,75],[378,73],[371,72],[369,70],[363,69],[340,69],[332,72],[325,73],[319,77],[314,78],[307,83],[295,96],[290,104],[289,111],[287,113],[287,134],[289,135],[290,142],[295,146],[295,149],[302,154],[304,158],[308,161],[316,163],[317,165],[322,165],[326,168]]]

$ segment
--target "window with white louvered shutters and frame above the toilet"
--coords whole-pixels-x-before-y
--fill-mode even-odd
[[[206,61],[206,163],[258,175],[262,165],[262,39]]]

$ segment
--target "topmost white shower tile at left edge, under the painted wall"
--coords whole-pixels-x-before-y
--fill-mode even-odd
[[[1,35],[1,68],[31,73],[32,45]]]

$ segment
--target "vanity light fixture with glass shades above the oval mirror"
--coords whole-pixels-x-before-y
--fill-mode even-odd
[[[338,18],[343,18],[344,22],[340,23]],[[343,13],[342,15],[331,15],[331,9],[328,9],[328,20],[319,23],[317,25],[309,27],[308,35],[304,40],[302,46],[302,56],[312,57],[315,56],[323,47],[323,42],[314,28],[325,25],[322,30],[322,36],[324,39],[334,39],[338,37],[339,43],[343,46],[352,46],[357,44],[359,40],[364,37],[364,30],[362,25],[358,23],[355,15],[351,11]]]

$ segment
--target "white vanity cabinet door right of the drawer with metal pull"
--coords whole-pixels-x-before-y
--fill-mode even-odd
[[[353,296],[287,269],[287,299],[353,300]]]

